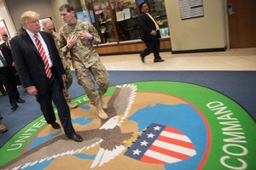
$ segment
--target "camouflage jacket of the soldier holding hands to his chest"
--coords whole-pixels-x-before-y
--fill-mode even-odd
[[[67,38],[75,35],[79,37],[80,31],[89,32],[94,38],[91,41],[87,41],[79,38],[72,48],[67,48]],[[59,36],[57,38],[58,48],[60,52],[67,57],[67,53],[70,52],[71,59],[73,61],[73,67],[78,68],[85,66],[89,68],[100,59],[99,55],[96,54],[93,44],[101,42],[101,38],[98,35],[95,27],[88,21],[77,20],[73,25],[64,25],[59,31]]]

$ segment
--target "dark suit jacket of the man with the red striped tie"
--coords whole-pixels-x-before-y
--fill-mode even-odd
[[[44,31],[40,31],[39,33],[47,45],[50,59],[57,74],[55,76],[60,80],[63,88],[64,85],[61,75],[65,73],[58,50],[55,47],[55,41],[51,34]],[[38,88],[38,94],[45,94],[47,92],[47,77],[44,71],[44,61],[27,32],[24,31],[20,35],[13,37],[11,47],[23,88],[36,86]]]

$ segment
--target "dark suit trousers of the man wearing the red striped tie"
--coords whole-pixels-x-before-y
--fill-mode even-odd
[[[47,93],[36,95],[36,99],[40,104],[41,111],[43,111],[46,122],[49,124],[56,121],[55,112],[52,105],[52,101],[54,102],[58,110],[61,125],[64,128],[67,137],[71,137],[75,131],[71,122],[69,107],[62,93],[61,82],[58,80],[55,74],[54,69],[52,69],[52,77],[47,79]]]

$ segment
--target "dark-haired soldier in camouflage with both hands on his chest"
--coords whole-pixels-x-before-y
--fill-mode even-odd
[[[103,110],[107,109],[108,105],[103,101],[102,96],[108,91],[109,76],[93,48],[93,44],[101,42],[101,39],[90,22],[77,20],[70,4],[62,5],[59,10],[66,25],[59,31],[58,46],[64,55],[70,52],[79,84],[84,88],[90,103],[96,106],[97,115],[106,120],[108,115]],[[94,80],[99,87],[98,94]]]

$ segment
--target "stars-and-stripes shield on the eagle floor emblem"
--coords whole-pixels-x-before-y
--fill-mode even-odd
[[[196,155],[191,140],[176,128],[152,123],[125,156],[153,164],[182,161]]]

